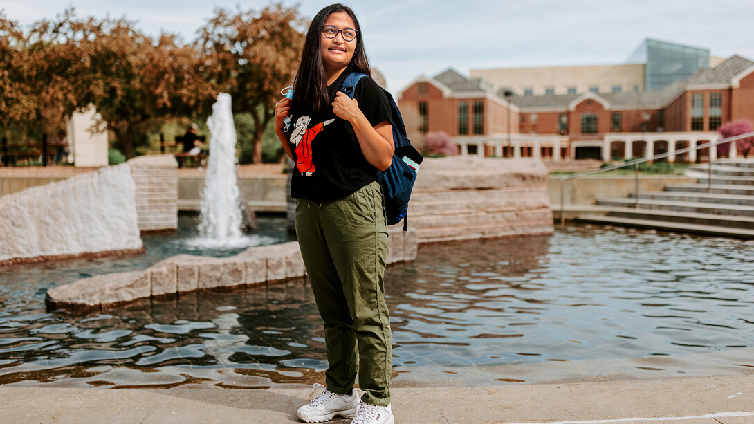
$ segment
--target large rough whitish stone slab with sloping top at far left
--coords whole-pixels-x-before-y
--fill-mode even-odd
[[[128,164],[0,198],[0,264],[143,250]]]

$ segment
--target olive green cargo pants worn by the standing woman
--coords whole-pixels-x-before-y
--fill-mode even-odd
[[[327,389],[350,393],[358,370],[362,401],[390,404],[388,232],[379,183],[335,201],[297,199],[296,235],[324,321]]]

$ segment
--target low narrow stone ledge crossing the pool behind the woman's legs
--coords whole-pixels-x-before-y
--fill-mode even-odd
[[[414,260],[417,232],[391,229],[387,263]],[[150,296],[169,296],[194,290],[289,281],[306,275],[296,241],[250,247],[234,257],[177,255],[143,272],[121,272],[84,278],[53,287],[45,302],[51,307],[99,309]]]

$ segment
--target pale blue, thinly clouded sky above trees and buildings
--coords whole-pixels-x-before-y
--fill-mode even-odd
[[[311,19],[325,0],[290,2]],[[448,68],[624,63],[645,38],[709,48],[754,60],[754,0],[345,0],[362,26],[366,51],[394,95],[421,75]],[[67,5],[78,16],[127,17],[150,35],[192,41],[216,8],[261,10],[268,0],[0,0],[23,26],[53,19]]]

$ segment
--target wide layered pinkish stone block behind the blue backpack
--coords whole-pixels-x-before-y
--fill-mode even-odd
[[[418,242],[553,232],[547,167],[536,159],[427,158],[408,225]]]

